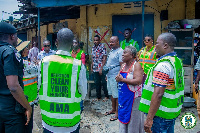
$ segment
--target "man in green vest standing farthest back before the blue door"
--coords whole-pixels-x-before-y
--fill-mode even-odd
[[[120,42],[120,47],[122,49],[125,49],[126,46],[134,46],[137,49],[137,52],[139,51],[139,45],[138,42],[131,39],[132,31],[130,28],[127,28],[124,30],[124,40]]]

